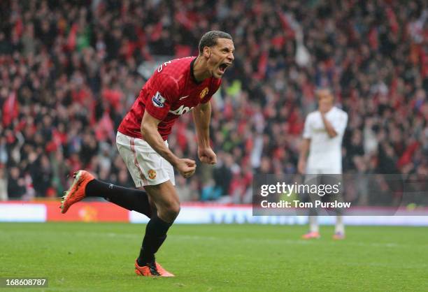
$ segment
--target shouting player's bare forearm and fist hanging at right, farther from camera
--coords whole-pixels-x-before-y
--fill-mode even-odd
[[[217,156],[210,145],[211,103],[199,103],[193,109],[193,120],[197,132],[198,156],[204,163],[217,163]]]

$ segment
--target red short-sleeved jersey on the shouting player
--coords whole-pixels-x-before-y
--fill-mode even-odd
[[[147,111],[161,121],[157,131],[166,140],[180,115],[199,103],[210,101],[222,80],[211,77],[197,82],[193,74],[195,59],[196,57],[175,59],[159,66],[141,89],[131,110],[122,119],[118,131],[143,139],[141,120]]]

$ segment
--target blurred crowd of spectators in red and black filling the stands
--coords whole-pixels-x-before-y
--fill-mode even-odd
[[[423,0],[0,1],[0,200],[56,197],[73,171],[131,187],[115,131],[159,56],[234,37],[213,96],[215,167],[176,177],[181,200],[248,203],[252,176],[296,173],[314,91],[349,115],[346,173],[428,175],[428,6]],[[195,158],[192,115],[169,145]]]

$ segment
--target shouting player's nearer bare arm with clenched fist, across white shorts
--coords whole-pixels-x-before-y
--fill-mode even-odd
[[[166,147],[164,139],[162,139],[159,131],[157,131],[159,122],[161,122],[160,119],[153,117],[146,111],[141,120],[141,134],[160,156],[164,157],[173,167],[177,168],[180,175],[183,175],[183,177],[190,177],[194,174],[194,170],[196,170],[195,161],[192,159],[180,159]]]

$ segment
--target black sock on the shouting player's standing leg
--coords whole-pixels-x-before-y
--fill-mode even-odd
[[[140,250],[140,256],[137,258],[139,266],[153,263],[155,261],[155,253],[159,247],[166,240],[166,232],[172,223],[168,223],[157,217],[153,216],[145,226],[145,235],[143,244]]]

